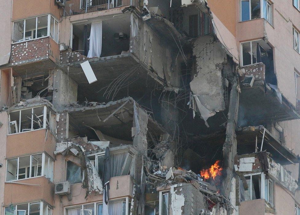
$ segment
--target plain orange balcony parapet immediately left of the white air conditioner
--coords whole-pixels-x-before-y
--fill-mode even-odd
[[[54,204],[54,184],[44,176],[27,178],[4,185],[4,205],[44,200]]]

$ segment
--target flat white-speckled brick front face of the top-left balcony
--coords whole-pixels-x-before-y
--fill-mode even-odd
[[[11,45],[10,63],[26,64],[49,58],[49,37]]]

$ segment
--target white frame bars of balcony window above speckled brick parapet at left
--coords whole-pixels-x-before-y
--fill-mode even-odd
[[[38,18],[39,18],[39,17],[43,17],[43,16],[48,16],[48,17],[47,17],[47,35],[44,36],[44,37],[38,37],[38,38],[37,38],[37,35],[38,35],[38,31],[37,31],[37,29],[38,29]],[[58,20],[57,20],[55,17],[53,17],[53,16],[50,15],[50,14],[44,14],[44,15],[41,15],[41,16],[32,17],[32,18],[36,18],[35,38],[31,38],[31,39],[29,39],[29,40],[27,40],[27,39],[25,38],[25,33],[26,33],[26,32],[25,32],[25,29],[26,29],[26,20],[32,19],[32,18],[26,18],[26,19],[20,19],[20,20],[14,21],[14,22],[13,22],[13,33],[12,33],[12,44],[17,44],[17,43],[21,43],[21,42],[24,42],[24,41],[32,41],[32,40],[36,40],[36,39],[41,39],[41,38],[45,38],[45,37],[50,37],[50,22],[51,22],[51,17],[54,19],[54,32],[55,32],[55,21],[58,23],[57,41],[55,41],[54,38],[53,38],[53,40],[58,44],[58,41],[59,41],[59,22],[58,22]],[[20,22],[20,21],[24,21],[23,40],[14,42],[14,41],[13,41],[13,39],[14,39],[14,24],[15,24],[15,22]],[[39,29],[41,29],[41,28],[39,28]],[[32,31],[34,31],[34,30],[32,30]],[[32,32],[31,34],[33,34],[33,32]],[[54,37],[54,35],[53,35],[53,37]]]

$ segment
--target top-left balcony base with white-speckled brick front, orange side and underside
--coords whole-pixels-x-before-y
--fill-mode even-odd
[[[11,45],[10,66],[18,75],[49,74],[49,68],[54,68],[56,63],[59,63],[59,45],[50,37]]]

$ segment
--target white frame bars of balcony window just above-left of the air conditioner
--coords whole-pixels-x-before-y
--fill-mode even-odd
[[[41,175],[31,177],[31,170],[32,170],[32,156],[39,155],[39,154],[42,155]],[[54,166],[54,160],[53,160],[48,154],[46,154],[45,152],[6,159],[5,182],[6,182],[6,183],[10,183],[10,182],[14,182],[14,181],[20,181],[20,180],[28,179],[28,178],[26,178],[26,177],[27,177],[27,172],[28,172],[28,170],[27,170],[28,166],[24,167],[24,168],[26,168],[26,169],[25,169],[25,178],[18,179],[18,177],[19,177],[19,160],[20,160],[20,158],[28,157],[28,156],[30,156],[29,178],[45,177],[45,174],[44,174],[44,170],[45,170],[45,155],[47,155],[47,156],[49,157],[49,159],[51,159],[51,160],[53,161],[52,164],[53,164],[53,166]],[[7,181],[7,168],[8,168],[7,166],[8,166],[8,161],[9,161],[9,160],[12,160],[12,159],[16,159],[16,158],[18,158],[18,160],[17,160],[17,174],[16,174],[16,178],[17,178],[17,179]],[[34,166],[36,166],[36,165],[34,165]],[[39,167],[39,164],[37,163],[37,168],[36,168],[35,171],[38,171],[38,167]],[[23,167],[22,167],[22,168],[23,168]],[[48,170],[49,170],[49,162],[48,162]],[[23,174],[22,174],[22,175],[23,175]],[[37,175],[37,174],[35,173],[35,175]],[[53,172],[52,172],[52,177],[50,177],[50,179],[51,179],[51,178],[52,178],[52,180],[53,180]]]

